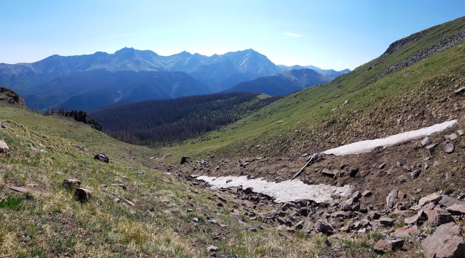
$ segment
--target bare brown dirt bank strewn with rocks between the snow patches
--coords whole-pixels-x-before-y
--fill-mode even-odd
[[[465,179],[458,176],[465,164],[465,159],[461,155],[465,136],[459,136],[454,140],[448,140],[443,136],[456,132],[462,127],[460,124],[462,123],[459,122],[443,132],[430,135],[431,140],[428,144],[439,143],[432,155],[424,147],[420,147],[422,139],[377,148],[358,155],[339,157],[320,155],[320,159],[305,168],[296,179],[307,184],[324,183],[337,186],[350,184],[354,190],[361,192],[371,190],[373,195],[364,202],[379,208],[385,204],[385,198],[392,189],[402,190],[412,199],[419,199],[439,189],[458,193],[461,190],[460,185],[465,184]],[[445,153],[443,150],[448,142],[454,144],[453,153]],[[152,167],[173,172],[184,178],[192,174],[247,175],[249,178],[264,178],[279,182],[291,179],[312,156],[312,153],[306,156],[302,154],[241,160],[190,160],[182,165],[165,166],[163,163],[158,163]],[[382,164],[384,165],[380,168]],[[322,173],[324,169],[337,169],[339,172],[335,177],[330,177]],[[351,169],[357,169],[358,172],[351,176]],[[420,174],[417,178],[411,179],[410,174],[414,170],[420,170]]]

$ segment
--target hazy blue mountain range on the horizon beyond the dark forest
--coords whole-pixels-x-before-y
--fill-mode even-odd
[[[316,71],[313,76],[319,76],[314,79],[317,83],[350,71],[323,70],[311,65],[276,65],[253,49],[211,56],[186,51],[162,56],[151,50],[125,47],[113,54],[52,55],[32,63],[0,63],[0,85],[19,92],[30,107],[66,106],[90,110],[119,100],[175,98],[222,90],[259,92],[259,89],[243,85],[229,88],[264,76],[273,76],[266,79],[273,82],[268,86],[262,83],[260,88],[269,87],[269,92],[287,94],[302,87],[293,85],[286,90],[286,85],[292,83],[282,84],[281,81],[283,76],[289,76],[275,75],[308,68]]]

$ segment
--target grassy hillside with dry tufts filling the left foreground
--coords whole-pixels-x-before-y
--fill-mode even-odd
[[[278,231],[245,215],[253,204],[248,200],[238,206],[231,194],[143,167],[148,148],[5,102],[0,122],[8,125],[0,140],[11,150],[10,156],[0,154],[0,256],[202,257],[210,256],[210,244],[220,257],[332,255],[327,236]],[[93,159],[98,151],[110,162]],[[90,201],[76,200],[73,189],[63,186],[66,178],[92,190]],[[364,243],[380,236],[331,241],[363,255],[370,248]]]

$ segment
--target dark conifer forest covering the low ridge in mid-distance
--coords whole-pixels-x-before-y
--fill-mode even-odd
[[[118,103],[88,113],[118,140],[165,145],[219,129],[279,98],[250,92],[216,93]]]

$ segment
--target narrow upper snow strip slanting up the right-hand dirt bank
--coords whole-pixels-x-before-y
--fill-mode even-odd
[[[337,148],[328,149],[323,151],[324,154],[334,154],[336,156],[359,154],[362,152],[369,152],[377,147],[387,147],[397,143],[405,142],[408,140],[421,138],[430,135],[433,132],[442,131],[445,128],[452,126],[457,120],[445,121],[437,123],[429,127],[424,127],[418,130],[406,131],[399,134],[394,134],[386,138],[362,140],[350,143]]]

